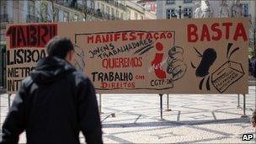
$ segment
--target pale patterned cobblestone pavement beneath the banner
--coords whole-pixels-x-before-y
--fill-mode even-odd
[[[2,127],[8,95],[0,98]],[[169,99],[172,111],[163,111],[164,120],[159,120],[156,94],[103,94],[104,143],[256,143],[256,131],[250,124],[255,87],[250,86],[246,95],[248,118],[241,118],[243,109],[237,109],[236,94],[172,94]],[[166,100],[163,95],[163,109]],[[242,95],[240,101],[243,106]],[[253,133],[254,140],[242,141],[245,133]],[[23,133],[19,142],[25,141]]]

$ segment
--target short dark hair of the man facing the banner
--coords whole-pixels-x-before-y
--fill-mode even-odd
[[[74,46],[71,40],[56,36],[48,42],[46,50],[48,56],[56,56],[61,59],[65,59],[67,52],[74,50]]]

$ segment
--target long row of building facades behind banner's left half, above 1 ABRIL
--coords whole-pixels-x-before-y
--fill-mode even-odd
[[[157,18],[145,9],[125,0],[0,0],[0,60],[6,56],[7,24]],[[0,62],[0,86],[4,63]]]

